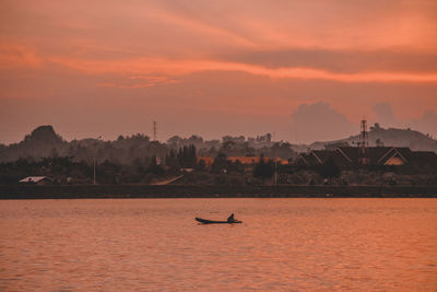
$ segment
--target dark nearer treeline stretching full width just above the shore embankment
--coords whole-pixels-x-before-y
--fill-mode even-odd
[[[156,155],[135,159],[130,164],[96,162],[97,184],[153,184],[180,177],[174,184],[190,185],[437,185],[437,172],[403,166],[359,166],[343,168],[333,160],[320,165],[281,164],[261,155],[258,163],[231,161],[220,152],[210,165],[197,156],[194,145],[169,150],[162,161]],[[71,156],[39,160],[20,159],[0,163],[0,184],[19,184],[27,176],[47,176],[52,184],[92,184],[94,163]]]

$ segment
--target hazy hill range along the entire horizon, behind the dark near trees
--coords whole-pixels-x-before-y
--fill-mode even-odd
[[[296,152],[310,149],[323,149],[329,144],[354,145],[359,136],[346,139],[315,142],[310,145],[290,144],[284,141],[272,141],[271,135],[257,138],[225,136],[222,140],[203,140],[201,137],[190,138],[172,137],[167,142],[151,141],[147,136],[137,133],[120,136],[115,141],[101,139],[82,139],[70,142],[55,132],[51,126],[40,126],[27,135],[23,141],[10,145],[0,144],[0,162],[12,162],[19,159],[38,160],[42,157],[69,156],[74,161],[93,162],[93,159],[103,162],[109,161],[120,164],[137,163],[141,165],[152,156],[164,160],[170,150],[194,145],[199,156],[215,157],[218,153],[227,156],[259,156],[290,159]],[[369,145],[409,147],[413,151],[437,152],[437,140],[427,135],[410,129],[383,129],[377,124],[370,127],[368,135]]]

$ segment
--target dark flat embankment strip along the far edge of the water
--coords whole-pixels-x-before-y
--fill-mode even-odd
[[[437,186],[0,185],[0,199],[437,198]]]

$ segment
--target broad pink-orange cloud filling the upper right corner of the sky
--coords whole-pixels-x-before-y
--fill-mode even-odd
[[[204,1],[164,2],[163,9],[233,32],[260,49],[380,49],[436,46],[432,1]],[[317,21],[315,21],[317,20]],[[215,35],[214,35],[215,37]],[[231,40],[231,42],[229,42]],[[222,42],[233,43],[224,37]]]

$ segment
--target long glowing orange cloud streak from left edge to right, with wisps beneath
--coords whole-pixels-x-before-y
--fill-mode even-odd
[[[150,87],[178,82],[175,78],[205,71],[238,71],[270,79],[328,80],[347,83],[437,83],[437,71],[378,70],[335,71],[311,66],[268,66],[253,62],[222,59],[172,59],[164,57],[95,59],[71,56],[38,56],[36,49],[20,45],[0,46],[0,66],[39,68],[43,63],[56,63],[85,74],[117,74],[122,82],[102,82],[98,86],[126,89]],[[312,63],[315,65],[315,63]],[[359,68],[358,68],[359,69]],[[402,69],[402,68],[400,68]],[[155,78],[151,78],[155,77]],[[158,79],[156,79],[158,77]],[[142,80],[142,82],[132,82]]]

